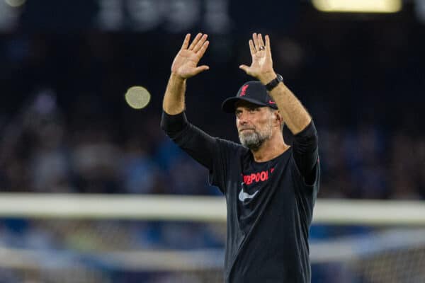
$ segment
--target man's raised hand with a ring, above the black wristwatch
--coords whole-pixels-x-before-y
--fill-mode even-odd
[[[270,37],[266,35],[266,44],[264,44],[261,33],[258,35],[254,33],[252,39],[249,40],[249,50],[252,57],[251,66],[242,64],[239,68],[263,83],[274,79],[276,73],[273,70],[273,60],[271,59]]]

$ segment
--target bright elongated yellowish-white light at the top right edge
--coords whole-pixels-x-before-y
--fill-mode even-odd
[[[397,13],[402,0],[312,0],[314,8],[322,12]]]

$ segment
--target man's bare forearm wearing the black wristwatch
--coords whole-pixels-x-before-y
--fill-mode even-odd
[[[273,74],[263,76],[260,80],[261,83],[266,85],[266,83],[275,78],[276,74],[273,72]],[[279,83],[269,94],[278,105],[283,122],[293,134],[298,134],[310,124],[312,121],[310,114],[284,83]]]

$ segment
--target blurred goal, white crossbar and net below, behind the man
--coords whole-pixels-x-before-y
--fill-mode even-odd
[[[224,197],[1,193],[0,281],[222,282],[225,221]],[[310,259],[312,283],[425,282],[425,202],[319,199]]]

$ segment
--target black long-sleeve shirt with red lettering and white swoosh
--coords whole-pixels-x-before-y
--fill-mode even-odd
[[[314,123],[266,162],[191,125],[184,112],[163,112],[161,126],[208,168],[210,183],[226,197],[225,282],[310,282],[308,231],[320,171]]]

